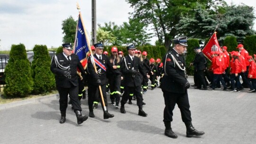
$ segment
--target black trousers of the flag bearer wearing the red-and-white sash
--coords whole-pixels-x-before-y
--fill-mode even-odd
[[[108,107],[107,87],[106,86],[107,86],[106,84],[101,85],[101,90],[102,90],[102,95],[103,95],[105,106]],[[101,94],[100,94],[99,86],[90,84],[90,85],[88,85],[88,89],[90,89],[90,90],[88,90],[88,92],[90,93],[88,95],[88,106],[89,106],[89,110],[93,111],[93,108],[92,108],[93,101],[98,99],[96,97],[100,97],[100,99],[101,99]],[[101,99],[101,107],[104,110],[102,99]]]

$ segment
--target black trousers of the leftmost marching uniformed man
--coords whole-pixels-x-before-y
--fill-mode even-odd
[[[68,94],[69,98],[71,99],[71,104],[73,105],[74,111],[79,110],[82,111],[82,108],[80,106],[80,102],[78,99],[78,86],[73,86],[71,88],[63,88],[63,87],[57,87],[57,90],[60,94],[60,111],[61,113],[65,113],[68,105]]]

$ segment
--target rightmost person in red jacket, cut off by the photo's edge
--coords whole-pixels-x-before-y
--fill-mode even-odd
[[[248,69],[248,78],[251,80],[254,90],[249,90],[248,92],[256,91],[256,65],[251,55],[247,56],[247,60],[250,63]]]

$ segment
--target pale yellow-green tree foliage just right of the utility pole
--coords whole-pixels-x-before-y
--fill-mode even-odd
[[[97,40],[103,45],[111,45],[116,40],[116,37],[110,31],[105,31],[101,28],[98,28]]]

